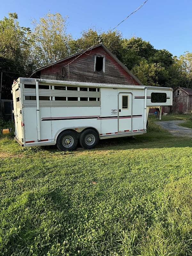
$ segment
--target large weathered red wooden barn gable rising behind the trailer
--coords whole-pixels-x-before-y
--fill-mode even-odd
[[[38,68],[33,78],[103,84],[142,85],[103,44]]]

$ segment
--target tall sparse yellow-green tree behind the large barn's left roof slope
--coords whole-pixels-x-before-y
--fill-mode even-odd
[[[71,36],[66,33],[66,17],[60,13],[47,13],[40,21],[33,20],[34,51],[41,65],[47,65],[69,55],[68,41]]]

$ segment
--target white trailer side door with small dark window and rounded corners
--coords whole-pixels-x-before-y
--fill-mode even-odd
[[[132,132],[132,93],[118,94],[118,132]]]

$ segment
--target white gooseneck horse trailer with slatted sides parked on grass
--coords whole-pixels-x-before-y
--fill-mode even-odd
[[[60,150],[146,133],[149,108],[172,105],[172,88],[153,86],[18,78],[12,94],[15,140]]]

